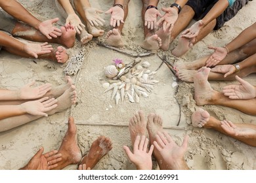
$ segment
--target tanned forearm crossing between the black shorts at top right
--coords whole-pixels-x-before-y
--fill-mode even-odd
[[[228,7],[227,0],[219,0],[215,5],[211,8],[211,10],[203,17],[203,26],[205,27],[209,24],[212,20],[220,16],[224,10]]]

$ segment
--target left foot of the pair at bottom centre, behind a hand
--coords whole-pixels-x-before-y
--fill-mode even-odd
[[[139,112],[130,119],[129,131],[131,135],[131,144],[134,144],[137,135],[140,135],[140,137],[142,137],[142,135],[146,136],[146,120],[142,110],[139,110]]]

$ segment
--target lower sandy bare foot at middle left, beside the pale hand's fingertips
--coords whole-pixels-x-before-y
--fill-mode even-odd
[[[62,112],[66,108],[69,108],[71,105],[74,105],[76,102],[76,92],[75,92],[75,86],[72,85],[68,90],[66,90],[60,97],[57,98],[57,107],[51,110],[50,112],[47,112],[49,115],[53,115],[56,112]]]

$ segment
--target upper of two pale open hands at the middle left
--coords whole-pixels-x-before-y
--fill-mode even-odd
[[[45,95],[45,93],[51,90],[51,87],[52,87],[52,84],[46,83],[46,84],[42,84],[41,86],[32,88],[34,84],[35,84],[35,81],[30,82],[29,84],[26,84],[25,86],[20,88],[20,90],[18,90],[18,98],[21,100],[38,99],[40,97],[43,97],[43,95]]]

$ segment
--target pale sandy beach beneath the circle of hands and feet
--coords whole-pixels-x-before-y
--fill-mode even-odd
[[[59,17],[60,20],[56,26],[60,27],[65,24],[65,20],[56,10],[54,1],[18,1],[39,20]],[[104,11],[112,6],[112,2],[110,0],[90,1],[92,7]],[[170,4],[170,1],[160,1],[158,9]],[[139,46],[144,39],[141,7],[141,1],[129,3],[129,14],[123,28],[125,46],[121,50],[137,54],[148,52]],[[159,56],[166,56],[171,63],[175,61],[185,63],[210,54],[212,50],[207,49],[208,45],[223,46],[256,21],[256,1],[249,1],[232,20],[226,22],[218,31],[207,35],[181,58],[175,58],[171,54],[178,39],[173,41],[167,52],[159,50],[157,54],[141,57],[138,65],[148,61],[150,71],[156,71],[160,67],[154,75],[154,80],[160,82],[154,86],[151,93],[148,93],[148,97],[140,97],[139,103],[131,103],[125,97],[124,101],[119,101],[116,105],[116,101],[111,100],[112,92],[104,93],[105,89],[102,84],[109,80],[104,75],[104,67],[111,65],[113,59],[116,58],[129,63],[136,57],[127,56],[97,44],[99,41],[106,40],[106,32],[111,29],[108,25],[110,16],[102,14],[102,18],[106,21],[102,27],[105,31],[104,36],[93,38],[87,44],[81,44],[76,40],[74,48],[68,49],[70,58],[81,50],[85,54],[79,71],[76,75],[71,75],[77,91],[77,103],[64,112],[1,132],[0,169],[12,170],[23,167],[40,146],[45,148],[45,152],[58,150],[68,127],[68,116],[74,116],[78,129],[78,144],[83,155],[88,152],[91,143],[98,136],[104,135],[112,139],[112,150],[100,160],[94,169],[136,169],[127,159],[123,145],[131,147],[128,124],[131,116],[138,110],[143,110],[145,115],[150,112],[160,114],[163,117],[163,128],[172,135],[177,144],[182,144],[184,135],[189,135],[185,159],[190,169],[256,169],[255,147],[211,129],[192,127],[190,116],[198,108],[193,99],[194,84],[178,82],[179,89],[177,90],[177,86],[173,88],[174,76],[165,64],[160,67],[162,61],[159,58]],[[58,45],[53,44],[53,46]],[[45,59],[20,58],[2,50],[0,54],[0,87],[16,89],[32,80],[36,80],[37,84],[49,82],[53,86],[59,86],[65,82],[64,68],[66,65],[68,62],[60,64]],[[256,85],[255,76],[255,74],[249,75],[244,79]],[[210,83],[214,90],[221,91],[224,86],[237,82],[211,81]],[[177,94],[175,94],[176,90]],[[220,120],[256,124],[256,116],[250,116],[232,108],[215,105],[205,105],[201,108],[206,109],[212,116]],[[70,165],[65,169],[76,169],[76,165]],[[155,160],[153,169],[159,169]]]

